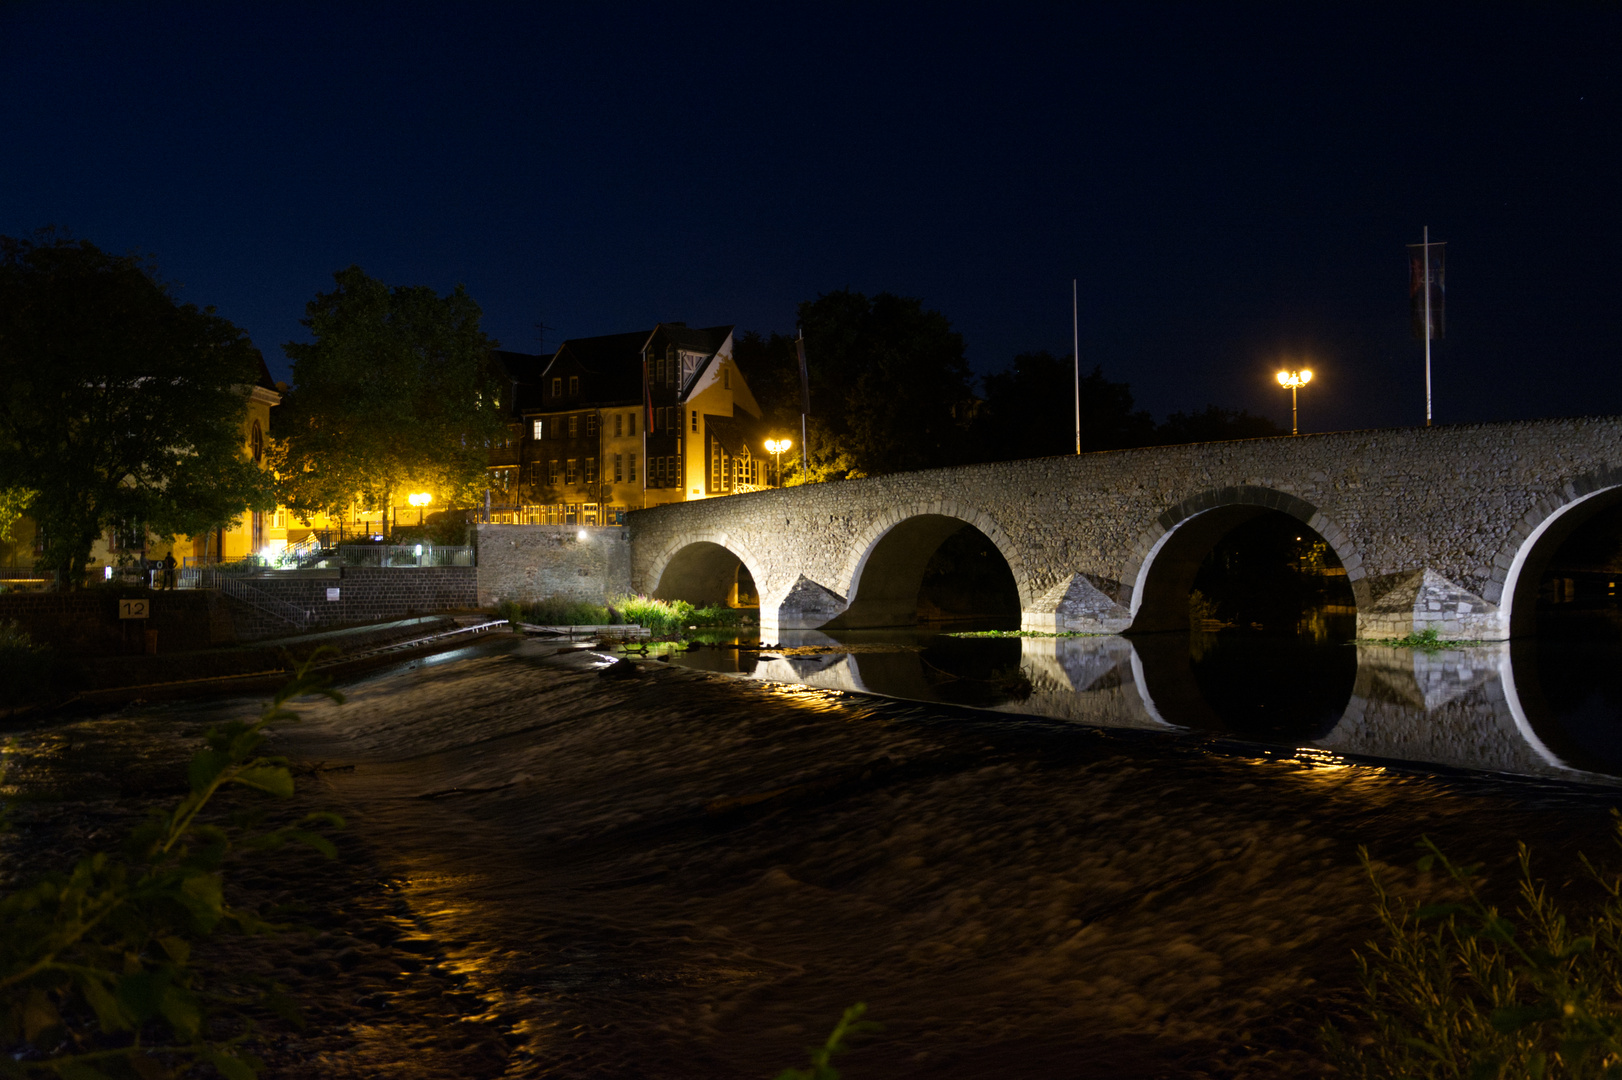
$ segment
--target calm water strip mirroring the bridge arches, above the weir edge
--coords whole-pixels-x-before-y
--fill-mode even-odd
[[[1109,728],[1560,780],[1622,777],[1622,647],[1526,639],[1424,652],[1218,634],[785,632],[675,662],[757,679]],[[743,647],[738,649],[736,644]],[[1590,650],[1590,654],[1594,650]]]

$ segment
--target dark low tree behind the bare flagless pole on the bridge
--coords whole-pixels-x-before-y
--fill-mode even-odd
[[[1069,357],[1025,352],[985,379],[975,431],[981,461],[1075,452],[1075,368]],[[1082,376],[1082,449],[1124,449],[1153,441],[1155,422],[1132,409],[1132,388],[1103,368]]]

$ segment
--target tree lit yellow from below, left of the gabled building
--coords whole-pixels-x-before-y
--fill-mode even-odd
[[[284,345],[294,389],[271,452],[282,503],[308,521],[355,501],[386,511],[406,485],[472,501],[506,433],[478,305],[461,285],[389,289],[358,266],[333,277],[305,306],[315,342]]]

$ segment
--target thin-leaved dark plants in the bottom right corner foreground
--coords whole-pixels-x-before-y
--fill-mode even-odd
[[[1619,819],[1622,829],[1622,819]],[[1358,957],[1367,1030],[1325,1028],[1343,1075],[1405,1080],[1622,1078],[1622,877],[1585,856],[1598,903],[1562,911],[1520,845],[1515,918],[1478,892],[1478,866],[1431,840],[1419,869],[1440,866],[1457,902],[1392,897],[1364,850],[1384,928]]]

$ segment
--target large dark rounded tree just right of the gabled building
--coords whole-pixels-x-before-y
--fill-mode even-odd
[[[811,475],[795,462],[795,480],[968,461],[968,363],[963,339],[944,315],[912,297],[881,292],[869,300],[840,290],[803,302],[800,326],[811,373]],[[798,435],[793,339],[744,334],[735,355],[767,420]]]

